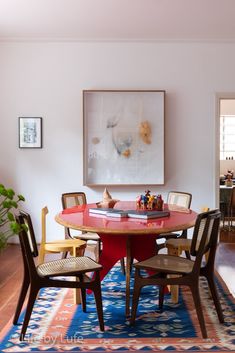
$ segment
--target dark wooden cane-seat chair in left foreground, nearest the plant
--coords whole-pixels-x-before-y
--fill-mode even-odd
[[[100,270],[102,266],[89,257],[69,257],[66,259],[54,260],[36,266],[34,258],[38,256],[38,249],[34,234],[31,217],[28,213],[20,211],[16,221],[21,225],[19,234],[22,250],[24,277],[21,286],[13,324],[16,325],[22,310],[26,294],[29,289],[29,296],[24,315],[23,326],[20,334],[20,341],[24,340],[28,323],[31,317],[34,303],[41,288],[80,288],[82,294],[82,309],[86,312],[86,290],[94,292],[100,330],[104,331],[103,306],[100,285]],[[27,227],[27,229],[26,229]],[[90,277],[87,273],[93,272]],[[61,277],[62,276],[62,277]],[[78,280],[71,280],[75,276]],[[61,277],[61,278],[57,278]]]

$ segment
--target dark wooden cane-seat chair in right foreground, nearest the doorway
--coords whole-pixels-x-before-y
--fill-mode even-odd
[[[206,277],[219,321],[221,323],[224,322],[219,296],[214,281],[214,260],[220,219],[221,213],[219,210],[203,212],[197,216],[190,247],[190,255],[191,257],[194,257],[194,260],[178,256],[158,254],[134,265],[136,271],[131,312],[132,325],[135,322],[142,287],[147,285],[159,286],[159,309],[162,310],[164,302],[164,287],[167,285],[183,285],[188,286],[191,290],[202,336],[203,338],[207,338],[207,330],[199,291],[200,276]],[[202,266],[203,255],[208,251],[208,261]],[[149,275],[147,277],[142,276],[142,270],[151,271],[155,273],[155,275]]]

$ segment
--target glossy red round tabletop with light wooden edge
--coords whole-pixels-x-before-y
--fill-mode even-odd
[[[188,229],[194,226],[196,213],[170,211],[169,217],[157,219],[137,218],[111,218],[103,215],[89,213],[89,208],[96,204],[75,206],[60,212],[56,221],[63,226],[87,232],[112,234],[112,235],[137,235],[157,234]],[[134,201],[120,201],[115,208],[130,210],[135,209]],[[165,205],[167,208],[167,205]]]

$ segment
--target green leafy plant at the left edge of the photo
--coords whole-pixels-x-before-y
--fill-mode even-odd
[[[0,252],[6,247],[8,239],[21,230],[13,213],[21,201],[25,201],[24,196],[16,195],[13,189],[0,184]]]

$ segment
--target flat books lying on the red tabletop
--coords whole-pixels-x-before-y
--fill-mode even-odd
[[[118,210],[115,208],[90,208],[89,212],[91,214],[104,215],[107,217],[142,219],[161,218],[170,215],[169,211]]]

